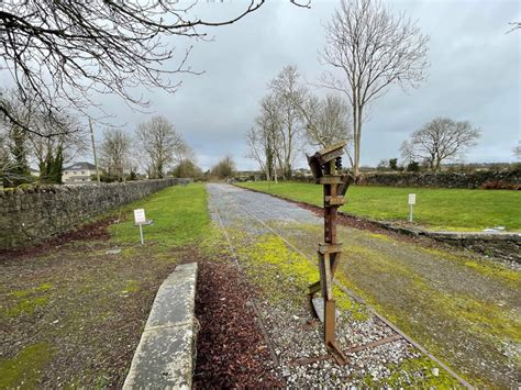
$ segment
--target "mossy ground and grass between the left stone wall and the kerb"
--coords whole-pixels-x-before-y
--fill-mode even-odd
[[[154,220],[143,246],[136,208]],[[85,226],[84,238],[0,259],[0,389],[120,388],[158,287],[213,239],[202,185],[164,189],[110,216],[121,222],[108,239],[89,239]]]

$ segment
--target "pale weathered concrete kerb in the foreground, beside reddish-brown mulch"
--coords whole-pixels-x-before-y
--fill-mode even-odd
[[[123,389],[191,389],[197,270],[179,265],[160,286]]]

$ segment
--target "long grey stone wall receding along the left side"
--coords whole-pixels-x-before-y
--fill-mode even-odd
[[[67,232],[115,207],[174,186],[177,179],[0,190],[0,250]]]

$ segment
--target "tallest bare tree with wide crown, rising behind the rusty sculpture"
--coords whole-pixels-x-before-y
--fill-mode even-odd
[[[342,0],[325,30],[321,57],[336,74],[325,73],[322,83],[345,93],[353,108],[353,174],[358,177],[368,104],[391,85],[414,88],[424,79],[428,37],[403,13],[392,15],[378,0]]]

